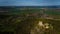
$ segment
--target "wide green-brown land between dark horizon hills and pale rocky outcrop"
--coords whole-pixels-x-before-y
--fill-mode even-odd
[[[30,34],[31,29],[42,21],[53,26],[52,30],[48,29],[50,33],[44,31],[44,34],[60,34],[59,8],[4,8],[0,11],[3,11],[0,12],[0,32]]]

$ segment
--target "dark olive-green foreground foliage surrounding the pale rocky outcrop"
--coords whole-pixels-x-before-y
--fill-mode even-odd
[[[43,21],[44,23],[52,24],[57,33],[60,32],[60,20],[19,17],[20,15],[3,15],[3,18],[0,18],[0,31],[16,31],[17,33],[27,34],[38,24],[39,21]]]

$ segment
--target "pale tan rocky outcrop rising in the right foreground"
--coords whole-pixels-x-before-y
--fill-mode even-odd
[[[53,34],[53,26],[48,23],[43,24],[43,22],[38,23],[38,25],[31,30],[30,34]]]

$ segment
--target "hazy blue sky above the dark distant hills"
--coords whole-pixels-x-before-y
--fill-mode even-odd
[[[0,6],[50,6],[60,5],[60,0],[0,0]]]

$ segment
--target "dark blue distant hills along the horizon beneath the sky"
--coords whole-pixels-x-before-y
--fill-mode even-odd
[[[58,6],[0,6],[0,8],[60,8]]]

